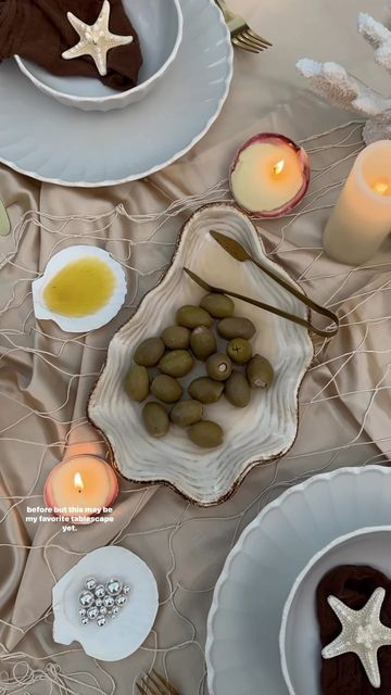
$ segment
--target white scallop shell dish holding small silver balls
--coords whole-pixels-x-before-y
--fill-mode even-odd
[[[87,626],[80,623],[79,595],[88,577],[104,582],[116,577],[130,586],[119,615],[103,628],[92,621]],[[144,642],[157,607],[156,582],[146,563],[124,547],[101,547],[88,553],[53,586],[53,640],[59,644],[76,641],[94,659],[119,661]]]

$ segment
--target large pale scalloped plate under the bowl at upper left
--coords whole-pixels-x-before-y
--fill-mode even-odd
[[[83,112],[39,92],[14,61],[0,66],[0,161],[63,186],[113,186],[188,152],[217,118],[232,47],[214,0],[180,0],[184,38],[172,70],[131,109]]]

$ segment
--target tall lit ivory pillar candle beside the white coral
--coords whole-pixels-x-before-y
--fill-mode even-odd
[[[391,231],[391,141],[357,156],[324,231],[324,249],[341,263],[371,258]]]

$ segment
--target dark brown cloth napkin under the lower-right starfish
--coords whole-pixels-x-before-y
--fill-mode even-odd
[[[341,632],[341,623],[327,603],[328,596],[337,596],[350,608],[360,610],[374,591],[382,586],[386,598],[381,622],[391,628],[391,580],[382,572],[367,566],[342,566],[332,569],[320,581],[316,592],[316,610],[323,646],[330,644]],[[343,654],[335,659],[321,659],[320,683],[323,695],[390,695],[391,647],[378,652],[381,686],[370,685],[358,657]]]

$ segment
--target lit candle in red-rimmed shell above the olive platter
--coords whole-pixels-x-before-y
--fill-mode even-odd
[[[280,217],[295,207],[310,184],[305,150],[283,135],[260,132],[241,146],[230,167],[230,188],[242,210]]]

